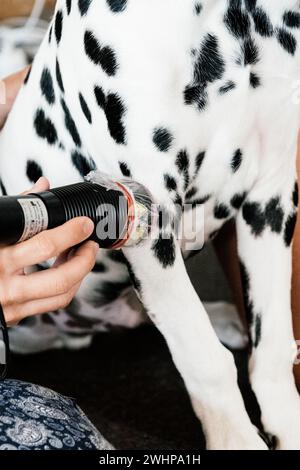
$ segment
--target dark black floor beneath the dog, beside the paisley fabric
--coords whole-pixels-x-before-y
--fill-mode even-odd
[[[246,352],[235,354],[251,416],[258,410],[247,385]],[[10,377],[74,397],[119,449],[205,447],[184,384],[160,333],[145,325],[98,335],[89,349],[13,357]]]

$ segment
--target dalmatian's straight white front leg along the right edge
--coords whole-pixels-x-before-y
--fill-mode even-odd
[[[298,203],[295,179],[293,174],[280,187],[274,180],[265,180],[248,196],[237,221],[252,343],[250,379],[262,423],[278,438],[279,449],[300,449],[290,298],[291,242]]]

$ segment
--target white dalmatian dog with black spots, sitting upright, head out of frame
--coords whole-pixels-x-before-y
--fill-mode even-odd
[[[204,213],[206,240],[236,220],[251,384],[277,448],[300,448],[290,302],[299,48],[299,0],[58,0],[0,137],[3,194],[97,168],[143,184],[170,214],[151,239],[101,252],[71,306],[44,322],[77,345],[135,326],[145,314],[132,280],[209,449],[267,445],[186,272],[173,218],[187,203]]]

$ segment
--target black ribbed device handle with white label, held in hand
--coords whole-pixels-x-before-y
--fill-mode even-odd
[[[89,217],[95,224],[90,239],[101,248],[112,248],[127,233],[128,200],[124,192],[97,183],[76,183],[26,196],[0,198],[0,244],[9,245],[58,227],[75,217]],[[99,233],[99,222],[113,230]]]

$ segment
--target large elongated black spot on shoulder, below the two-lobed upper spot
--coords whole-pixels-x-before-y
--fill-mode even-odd
[[[117,144],[125,145],[126,131],[122,121],[126,108],[120,96],[116,93],[107,95],[104,111],[111,137]]]

